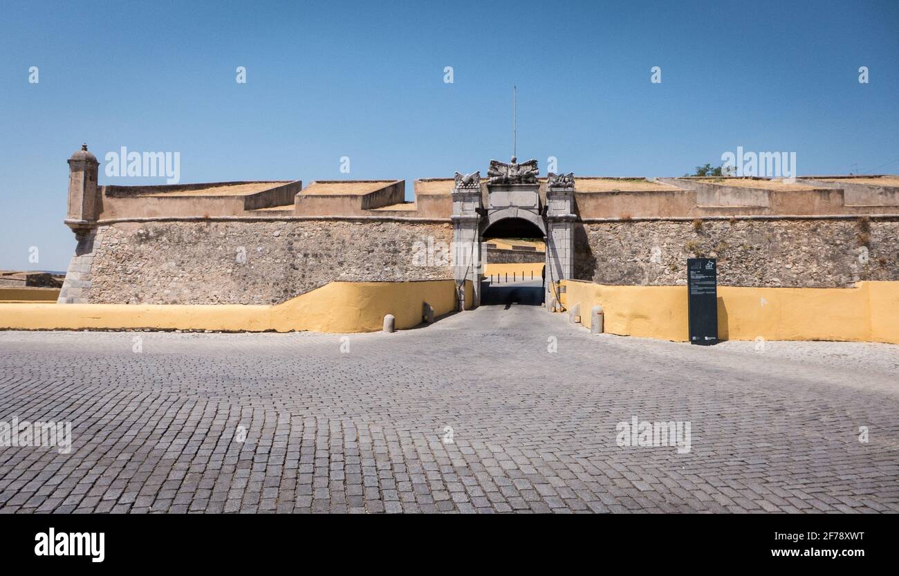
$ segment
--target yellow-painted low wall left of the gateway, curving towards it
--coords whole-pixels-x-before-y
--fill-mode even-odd
[[[468,308],[471,282],[465,293]],[[423,302],[433,306],[435,316],[448,314],[456,306],[455,295],[453,280],[428,280],[332,282],[274,306],[4,304],[0,329],[376,332],[388,314],[396,317],[397,329],[422,323]]]

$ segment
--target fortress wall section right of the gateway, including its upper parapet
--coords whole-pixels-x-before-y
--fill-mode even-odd
[[[686,284],[718,259],[723,286],[843,288],[899,279],[899,178],[583,179],[574,279]]]

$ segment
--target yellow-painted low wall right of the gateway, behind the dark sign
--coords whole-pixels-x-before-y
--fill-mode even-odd
[[[606,286],[563,280],[566,309],[600,305],[604,330],[625,336],[688,341],[686,286]],[[878,341],[899,344],[899,282],[856,288],[718,287],[721,340]]]

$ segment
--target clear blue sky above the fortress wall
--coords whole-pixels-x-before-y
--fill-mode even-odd
[[[553,155],[682,175],[736,146],[796,152],[800,174],[899,172],[895,0],[4,2],[0,269],[66,270],[82,142],[101,161],[179,152],[181,182],[400,178],[411,195],[508,159],[513,84],[518,155],[541,173]]]

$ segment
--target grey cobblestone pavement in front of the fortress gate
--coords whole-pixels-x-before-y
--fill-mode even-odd
[[[347,337],[0,332],[0,421],[74,439],[0,448],[0,511],[897,511],[897,368],[516,305]],[[689,421],[690,452],[620,448],[632,417]]]

